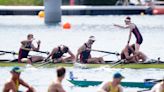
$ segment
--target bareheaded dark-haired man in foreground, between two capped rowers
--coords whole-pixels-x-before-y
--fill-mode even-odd
[[[57,68],[57,78],[50,84],[47,92],[66,92],[62,86],[62,81],[65,77],[65,72],[66,69],[64,67]]]

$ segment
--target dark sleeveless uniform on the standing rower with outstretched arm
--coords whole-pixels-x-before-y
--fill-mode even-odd
[[[138,43],[140,45],[143,41],[143,38],[136,25],[135,25],[135,28],[132,29],[132,32],[136,37],[136,43]]]

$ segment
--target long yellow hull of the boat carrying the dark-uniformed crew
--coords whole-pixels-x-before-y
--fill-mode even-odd
[[[33,63],[33,65],[37,66],[40,63]],[[113,64],[115,63],[108,63],[108,64],[82,64],[84,66],[86,66],[87,68],[98,68],[98,67],[111,67]],[[17,61],[15,62],[8,62],[8,61],[1,61],[0,60],[0,67],[7,67],[7,66],[25,66],[26,63],[18,63]],[[74,64],[72,63],[57,63],[57,64],[53,64],[53,63],[48,63],[42,67],[48,67],[48,68],[52,68],[52,67],[56,67],[56,66],[65,66],[65,67],[73,67]],[[160,69],[164,69],[164,63],[139,63],[139,64],[135,64],[135,63],[131,63],[131,64],[118,64],[116,66],[114,66],[113,68],[132,68],[132,69],[144,69],[144,68],[160,68]]]

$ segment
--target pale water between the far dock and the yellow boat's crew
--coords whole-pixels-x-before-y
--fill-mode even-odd
[[[129,30],[115,28],[113,23],[124,24],[126,16],[62,16],[62,23],[72,24],[70,30],[63,30],[60,25],[47,26],[44,20],[37,16],[0,16],[0,45],[1,50],[16,51],[20,41],[28,33],[33,33],[40,39],[41,50],[51,51],[53,47],[65,44],[73,53],[86,42],[90,35],[96,36],[94,49],[118,51],[127,43]],[[150,58],[164,59],[164,16],[131,16],[143,35],[141,50]],[[155,22],[150,22],[155,21]],[[131,43],[135,42],[132,36]],[[103,56],[104,53],[93,52],[93,56]],[[0,56],[1,57],[1,56]],[[12,57],[12,56],[7,56]],[[116,59],[115,56],[105,56],[106,59]]]

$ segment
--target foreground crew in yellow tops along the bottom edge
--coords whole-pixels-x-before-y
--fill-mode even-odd
[[[27,88],[25,92],[36,92],[36,89],[26,83],[22,78],[20,78],[21,72],[23,70],[20,67],[13,67],[10,71],[11,78],[4,84],[2,92],[22,92],[19,91],[19,86],[22,85]],[[66,92],[62,86],[62,81],[65,78],[66,69],[60,67],[56,69],[56,79],[49,85],[47,92]],[[100,86],[98,92],[123,92],[123,87],[120,85],[121,80],[125,77],[120,73],[115,73],[113,75],[113,80],[108,82],[103,82]],[[24,91],[23,91],[24,92]],[[159,83],[155,84],[149,92],[164,92],[164,79]]]

